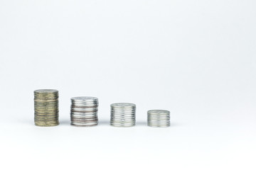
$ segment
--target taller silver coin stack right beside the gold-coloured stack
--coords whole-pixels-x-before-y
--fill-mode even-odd
[[[97,111],[99,102],[95,97],[71,98],[71,125],[94,126],[98,124]]]

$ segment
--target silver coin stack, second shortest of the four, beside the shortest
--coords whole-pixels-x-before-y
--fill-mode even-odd
[[[135,125],[136,105],[133,103],[114,103],[111,106],[110,125],[131,127]]]

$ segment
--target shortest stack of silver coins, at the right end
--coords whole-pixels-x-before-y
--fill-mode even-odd
[[[147,113],[147,124],[151,127],[169,127],[170,112],[164,110],[151,110]]]

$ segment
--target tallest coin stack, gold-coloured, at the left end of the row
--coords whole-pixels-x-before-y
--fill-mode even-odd
[[[34,91],[34,111],[35,125],[58,125],[58,91],[50,89]]]

